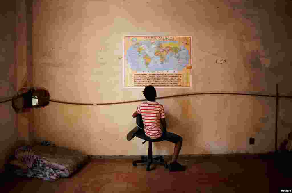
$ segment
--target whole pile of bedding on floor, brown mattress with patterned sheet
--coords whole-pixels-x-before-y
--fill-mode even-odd
[[[10,162],[16,166],[17,176],[58,180],[69,177],[88,162],[88,156],[66,148],[51,145],[22,146],[15,151],[15,159]]]

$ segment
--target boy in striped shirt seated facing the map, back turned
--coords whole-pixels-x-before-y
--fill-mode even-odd
[[[133,113],[133,118],[137,117],[138,114],[141,114],[144,129],[135,127],[128,133],[127,140],[130,141],[135,136],[142,136],[144,139],[146,135],[147,141],[155,142],[166,140],[175,143],[173,157],[168,163],[168,169],[169,171],[184,171],[186,167],[177,162],[183,138],[179,135],[166,132],[164,107],[158,102],[155,102],[155,98],[157,97],[155,88],[152,85],[149,85],[145,87],[143,94],[147,99],[147,102],[144,102],[137,107],[137,110]],[[160,123],[162,128],[160,128]]]

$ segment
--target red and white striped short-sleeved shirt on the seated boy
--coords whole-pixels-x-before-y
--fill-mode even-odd
[[[163,105],[147,101],[137,107],[137,112],[142,115],[145,135],[152,139],[159,138],[162,135],[160,119],[166,117]]]

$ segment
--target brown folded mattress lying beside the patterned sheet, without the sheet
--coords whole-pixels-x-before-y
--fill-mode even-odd
[[[69,150],[51,145],[35,145],[32,147],[34,155],[48,162],[65,166],[70,175],[88,162],[88,156],[76,150]]]

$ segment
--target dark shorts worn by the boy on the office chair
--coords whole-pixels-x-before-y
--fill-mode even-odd
[[[139,127],[140,128],[140,127]],[[151,139],[150,137],[146,136],[143,129],[139,129],[135,136],[147,141],[157,142],[157,141],[171,141],[172,143],[178,143],[179,141],[183,141],[183,138],[177,134],[171,132],[165,132],[162,134],[161,137],[157,139]]]

